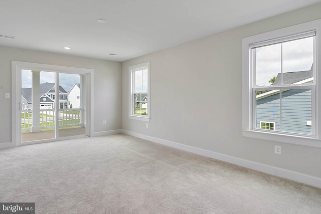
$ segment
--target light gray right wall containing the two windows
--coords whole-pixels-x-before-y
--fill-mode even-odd
[[[122,63],[122,128],[321,177],[321,149],[242,136],[242,38],[321,19],[321,4]],[[224,22],[224,21],[222,21]],[[150,122],[128,119],[128,66],[150,62]],[[274,145],[282,154],[274,154]]]

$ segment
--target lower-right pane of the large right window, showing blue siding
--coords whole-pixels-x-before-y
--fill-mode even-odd
[[[311,89],[282,90],[281,130],[311,134]]]

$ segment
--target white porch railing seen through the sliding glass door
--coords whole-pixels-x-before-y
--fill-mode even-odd
[[[60,127],[72,127],[82,126],[81,120],[82,111],[81,108],[73,109],[59,109],[59,128]],[[36,115],[32,114],[32,110],[21,111],[21,130],[30,131],[32,126],[32,117]],[[39,121],[41,129],[53,129],[56,126],[56,112],[55,109],[40,109]]]

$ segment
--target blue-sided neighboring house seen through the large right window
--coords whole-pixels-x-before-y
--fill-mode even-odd
[[[312,68],[310,71],[283,73],[284,84],[311,82]],[[278,74],[273,85],[280,84]],[[311,134],[311,90],[283,90],[281,100],[280,106],[279,90],[256,95],[256,128]]]

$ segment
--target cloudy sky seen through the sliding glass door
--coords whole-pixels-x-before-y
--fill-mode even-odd
[[[30,70],[22,70],[21,74],[21,87],[31,88],[32,86],[32,72]],[[55,73],[54,72],[40,72],[40,83],[54,83]],[[75,83],[80,83],[80,76],[77,74],[59,74],[59,84],[66,90],[69,91]]]

